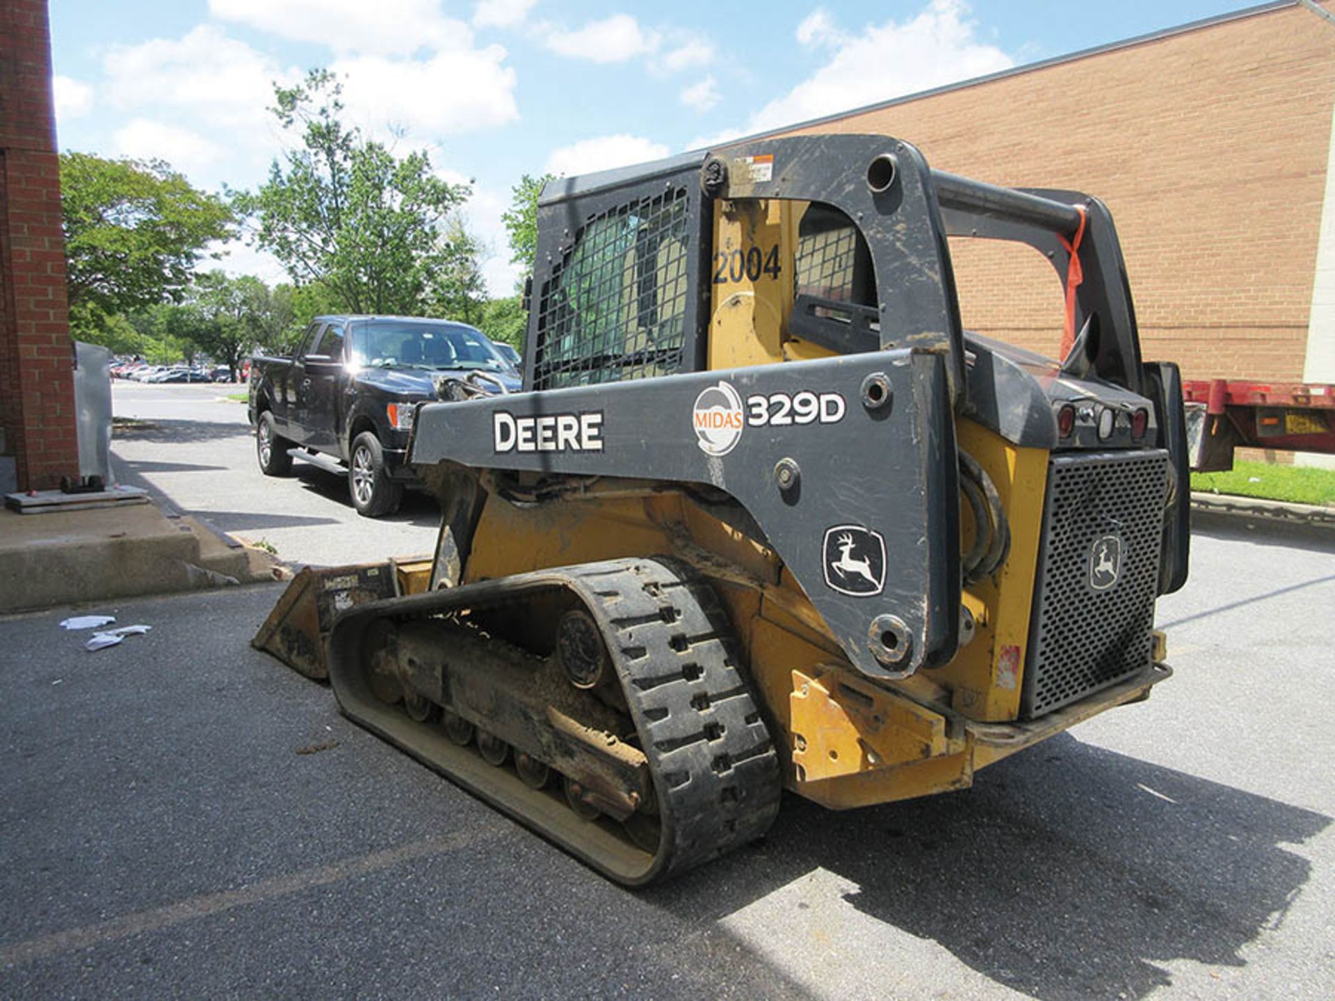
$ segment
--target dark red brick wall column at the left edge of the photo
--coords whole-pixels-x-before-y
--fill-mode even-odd
[[[20,488],[77,476],[45,0],[0,3],[0,419]]]

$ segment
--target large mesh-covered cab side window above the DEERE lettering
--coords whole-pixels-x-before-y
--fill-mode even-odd
[[[645,379],[682,367],[686,190],[590,218],[543,282],[534,388]]]

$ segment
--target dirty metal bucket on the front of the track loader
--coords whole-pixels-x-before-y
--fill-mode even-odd
[[[307,678],[324,679],[324,641],[342,611],[362,602],[418,594],[427,590],[430,578],[430,558],[306,567],[283,591],[251,646]]]

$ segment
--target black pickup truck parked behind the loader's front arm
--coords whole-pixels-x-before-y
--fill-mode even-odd
[[[260,471],[286,475],[292,448],[347,467],[359,514],[391,514],[415,482],[405,464],[413,411],[454,376],[489,392],[519,372],[474,327],[417,316],[316,316],[292,358],[256,355],[248,415]]]

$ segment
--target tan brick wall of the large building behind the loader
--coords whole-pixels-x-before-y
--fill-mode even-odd
[[[941,170],[1097,195],[1147,359],[1298,380],[1332,100],[1335,27],[1291,7],[797,131],[885,132]],[[1056,274],[1028,248],[1007,270],[965,243],[952,255],[965,326],[1052,354]]]

